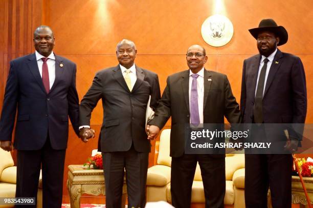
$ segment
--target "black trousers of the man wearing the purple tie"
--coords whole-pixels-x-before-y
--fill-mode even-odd
[[[206,208],[223,208],[226,189],[225,157],[214,158],[210,154],[184,154],[172,158],[171,196],[175,208],[189,208],[191,188],[197,162],[199,162]]]

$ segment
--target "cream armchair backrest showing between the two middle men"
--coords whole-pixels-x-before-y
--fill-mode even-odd
[[[171,167],[172,158],[169,155],[170,152],[170,134],[171,129],[164,129],[160,137],[158,165],[166,165]]]

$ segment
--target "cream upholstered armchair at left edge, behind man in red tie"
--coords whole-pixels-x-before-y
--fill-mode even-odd
[[[15,197],[16,166],[11,153],[0,148],[0,197]],[[0,205],[0,207],[14,207],[14,205]],[[41,173],[39,177],[37,207],[42,207]]]

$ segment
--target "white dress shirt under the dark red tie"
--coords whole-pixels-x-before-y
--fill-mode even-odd
[[[36,60],[37,60],[39,73],[40,73],[40,76],[42,78],[43,61],[41,60],[41,58],[46,58],[46,57],[44,57],[41,54],[39,54],[37,52],[37,50],[35,51],[35,55],[36,55]],[[52,85],[54,83],[54,80],[55,80],[55,56],[54,56],[53,51],[51,52],[51,54],[47,58],[49,58],[47,60],[47,65],[48,65],[48,72],[49,72],[49,85],[50,85],[50,89],[51,89],[51,87],[52,87]]]

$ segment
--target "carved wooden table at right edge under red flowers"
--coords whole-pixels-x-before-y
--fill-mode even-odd
[[[303,177],[307,194],[313,202],[313,177]],[[292,203],[300,204],[300,207],[305,207],[307,204],[305,194],[301,185],[299,176],[293,176],[292,178]]]

